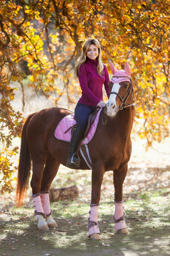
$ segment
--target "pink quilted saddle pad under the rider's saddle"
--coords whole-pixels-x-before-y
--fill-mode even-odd
[[[84,138],[82,141],[82,144],[88,144],[94,137],[94,134],[97,129],[98,122],[99,122],[100,113],[101,113],[101,109],[97,113],[95,121],[92,123],[86,138]],[[71,129],[69,129],[69,128],[74,126],[75,124],[76,124],[76,121],[74,119],[74,114],[66,115],[66,117],[61,119],[61,121],[58,123],[55,133],[54,133],[54,136],[57,139],[60,139],[61,141],[70,142]]]

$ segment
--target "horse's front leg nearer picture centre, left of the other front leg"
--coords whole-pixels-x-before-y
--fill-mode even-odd
[[[95,164],[95,166],[92,168],[92,191],[89,212],[90,214],[88,217],[88,237],[94,240],[101,239],[99,226],[97,224],[97,214],[104,172],[104,165],[101,162]]]

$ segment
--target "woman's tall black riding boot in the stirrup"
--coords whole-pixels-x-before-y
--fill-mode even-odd
[[[84,131],[78,125],[71,137],[70,150],[67,158],[67,167],[74,168],[80,166],[80,158],[76,155],[80,141],[83,139]]]

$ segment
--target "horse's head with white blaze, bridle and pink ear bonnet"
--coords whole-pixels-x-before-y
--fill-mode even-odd
[[[133,86],[131,84],[131,71],[128,62],[125,70],[118,71],[110,61],[113,77],[109,84],[109,100],[106,104],[107,115],[114,117],[118,110],[133,105]]]

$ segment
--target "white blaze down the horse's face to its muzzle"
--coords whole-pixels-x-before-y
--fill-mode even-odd
[[[118,93],[118,91],[119,91],[119,89],[120,89],[120,84],[113,84],[113,86],[112,86],[112,92],[116,92],[116,93]],[[110,96],[109,96],[109,100],[108,100],[108,102],[107,102],[107,114],[108,115],[110,115],[110,116],[114,116],[114,115],[116,115],[116,113],[117,113],[117,105],[116,105],[116,97],[117,97],[117,95],[116,94],[111,94]]]

